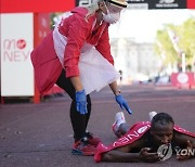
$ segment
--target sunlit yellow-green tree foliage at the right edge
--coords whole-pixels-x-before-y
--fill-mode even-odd
[[[181,25],[165,25],[164,29],[156,33],[155,51],[158,55],[164,55],[164,63],[180,63],[181,56],[170,34],[172,33],[173,41],[177,47],[185,53],[186,63],[193,64],[195,59],[195,17],[190,17]]]

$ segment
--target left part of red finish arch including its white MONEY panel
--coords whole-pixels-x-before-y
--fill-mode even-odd
[[[38,97],[29,54],[50,30],[49,13],[73,8],[75,0],[0,1],[1,97]]]

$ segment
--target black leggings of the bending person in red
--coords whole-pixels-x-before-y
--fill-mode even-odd
[[[56,85],[64,89],[68,95],[72,98],[72,105],[70,105],[70,120],[72,120],[72,126],[74,129],[74,138],[75,140],[79,140],[84,137],[86,128],[90,118],[91,114],[91,100],[90,95],[87,95],[87,101],[88,101],[88,114],[82,115],[76,110],[76,101],[75,101],[75,88],[70,81],[69,78],[65,77],[65,72],[64,69],[62,70]]]

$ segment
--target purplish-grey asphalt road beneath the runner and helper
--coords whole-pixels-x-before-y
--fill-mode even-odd
[[[195,132],[195,89],[154,86],[121,86],[121,92],[133,114],[126,119],[132,125],[148,120],[151,111],[167,112],[176,124]],[[92,93],[89,131],[105,144],[115,141],[114,116],[120,111],[108,88]],[[194,167],[195,159],[178,162],[176,157],[160,163],[94,163],[92,156],[70,154],[73,130],[67,95],[50,98],[40,104],[0,105],[0,167]]]

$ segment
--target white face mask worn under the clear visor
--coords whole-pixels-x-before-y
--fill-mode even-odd
[[[110,13],[109,10],[107,9],[106,4],[105,8],[107,10],[107,14],[103,13],[103,20],[109,24],[116,23],[120,18],[120,13]]]

